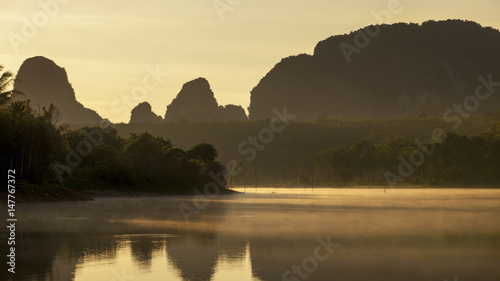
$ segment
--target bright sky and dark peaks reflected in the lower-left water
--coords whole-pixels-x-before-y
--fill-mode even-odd
[[[248,241],[171,235],[28,236],[24,239],[50,245],[53,251],[25,248],[18,255],[16,278],[4,280],[259,280],[252,277]]]

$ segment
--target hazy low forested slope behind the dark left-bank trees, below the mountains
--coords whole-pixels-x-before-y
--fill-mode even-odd
[[[460,126],[441,118],[421,113],[413,117],[372,120],[329,120],[319,118],[314,122],[290,122],[272,136],[272,141],[258,140],[262,150],[250,144],[249,139],[259,137],[270,128],[270,120],[247,122],[180,122],[163,124],[116,124],[122,137],[144,130],[154,136],[168,138],[180,148],[189,149],[196,143],[210,143],[219,152],[218,160],[223,164],[236,163],[237,173],[230,175],[231,185],[295,185],[297,183],[340,184],[337,180],[325,179],[317,172],[317,155],[330,149],[349,148],[360,141],[371,145],[404,139],[414,143],[431,136],[433,129],[442,128],[445,133],[467,138],[484,137],[487,132],[498,130],[500,112],[487,111],[461,120]],[[497,128],[497,129],[495,129]],[[494,134],[493,134],[494,135]],[[243,144],[243,145],[242,145]],[[262,147],[259,147],[262,148]],[[251,153],[255,151],[255,157]],[[475,148],[470,147],[470,150]],[[404,155],[404,153],[402,153]],[[394,152],[394,166],[384,168],[397,174],[398,155]],[[389,163],[389,164],[391,164]],[[298,180],[299,176],[307,181]],[[385,178],[370,184],[386,184]],[[350,184],[367,184],[352,181]],[[406,184],[412,183],[409,180]],[[416,183],[416,182],[415,182]],[[444,182],[443,182],[444,183]],[[428,181],[425,182],[428,184]]]

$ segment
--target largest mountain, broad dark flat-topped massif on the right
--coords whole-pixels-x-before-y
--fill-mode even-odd
[[[498,50],[500,32],[470,21],[367,26],[276,64],[252,90],[249,118],[284,106],[296,121],[443,116],[464,101],[475,109],[466,97],[484,84],[478,78],[500,81]],[[480,100],[478,112],[498,109],[498,96]]]

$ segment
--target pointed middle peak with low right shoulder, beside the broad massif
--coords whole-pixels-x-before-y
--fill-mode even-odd
[[[245,121],[241,106],[219,106],[205,78],[197,78],[182,86],[175,99],[167,106],[166,122]]]

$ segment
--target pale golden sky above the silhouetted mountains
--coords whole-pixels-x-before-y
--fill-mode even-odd
[[[128,122],[143,101],[164,116],[197,77],[219,104],[246,109],[282,58],[368,24],[464,19],[500,29],[498,11],[499,0],[2,0],[0,64],[17,71],[29,57],[48,57],[67,70],[81,103]],[[148,69],[169,74],[134,94]]]

